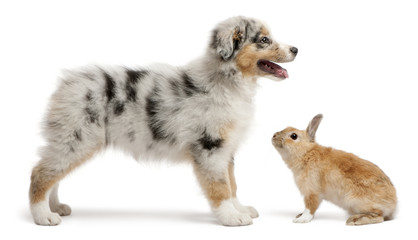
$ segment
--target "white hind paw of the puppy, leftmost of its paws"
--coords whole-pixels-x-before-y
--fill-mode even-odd
[[[31,212],[33,221],[38,225],[55,226],[61,223],[59,214],[51,212],[46,201],[31,205]]]

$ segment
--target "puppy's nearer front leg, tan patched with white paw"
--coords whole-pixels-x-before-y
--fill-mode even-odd
[[[229,161],[214,159],[214,157],[216,157],[216,154],[212,154],[208,158],[200,156],[200,158],[194,161],[197,179],[208,198],[213,212],[225,226],[252,224],[251,216],[238,211],[234,206],[234,201],[236,200],[232,194],[233,189],[231,189],[229,178]]]

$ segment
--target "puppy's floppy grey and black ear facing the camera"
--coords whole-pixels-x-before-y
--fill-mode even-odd
[[[213,31],[211,47],[227,61],[241,48],[244,36],[244,29],[239,26],[232,29],[219,27]]]

